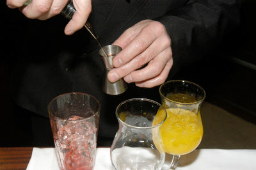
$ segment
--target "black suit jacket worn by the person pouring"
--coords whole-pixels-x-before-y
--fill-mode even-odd
[[[113,43],[141,20],[164,24],[172,39],[170,77],[214,50],[239,24],[235,0],[93,0],[92,6],[89,20],[104,45]],[[120,102],[134,97],[160,102],[158,87],[144,89],[129,84],[122,95],[104,94],[105,70],[99,46],[86,29],[66,36],[63,29],[67,20],[61,15],[45,21],[19,17],[19,53],[12,76],[17,104],[47,117],[47,104],[52,98],[72,91],[89,93],[101,105],[99,136],[113,137],[117,130],[115,108]]]

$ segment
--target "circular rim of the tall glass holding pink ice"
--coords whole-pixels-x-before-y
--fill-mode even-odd
[[[54,115],[54,113],[50,111],[50,110],[51,110],[51,109],[50,109],[51,104],[52,104],[52,102],[53,102],[54,100],[56,100],[57,98],[60,98],[60,97],[62,97],[62,96],[64,96],[64,95],[72,95],[72,94],[79,94],[79,95],[85,95],[85,96],[92,97],[92,98],[97,102],[97,104],[98,104],[98,106],[99,106],[99,108],[97,109],[97,112],[93,112],[93,115],[92,115],[92,116],[89,116],[88,118],[83,118],[83,117],[82,117],[83,119],[81,119],[81,120],[65,120],[65,119],[63,119],[63,118],[60,118],[60,117]],[[47,105],[47,111],[49,112],[49,115],[52,115],[53,117],[58,118],[58,119],[60,119],[61,121],[79,122],[79,121],[88,120],[88,119],[90,119],[90,118],[92,118],[92,117],[97,116],[97,115],[99,114],[99,112],[100,112],[100,103],[99,103],[99,100],[97,100],[97,98],[93,97],[93,95],[89,95],[89,94],[87,94],[87,93],[82,93],[82,92],[69,92],[69,93],[63,93],[63,94],[61,94],[61,95],[58,95],[57,97],[54,97],[54,98],[51,100],[51,102],[49,102],[49,104]]]

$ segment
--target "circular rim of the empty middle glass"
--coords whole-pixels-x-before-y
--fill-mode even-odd
[[[118,112],[117,112],[118,108],[119,108],[121,105],[123,105],[123,104],[125,104],[125,103],[127,103],[127,102],[136,101],[136,100],[147,101],[147,102],[151,102],[151,103],[154,103],[154,104],[156,104],[156,105],[159,105],[159,107],[161,107],[161,109],[163,109],[164,112],[165,112],[164,120],[161,121],[160,123],[157,123],[157,125],[151,125],[150,127],[136,127],[136,126],[129,125],[128,123],[125,123],[124,121],[122,121],[122,120],[119,118],[119,116],[118,116]],[[130,98],[130,99],[125,100],[125,101],[121,102],[120,104],[118,104],[118,106],[116,107],[116,118],[117,118],[118,121],[120,121],[121,123],[123,123],[123,124],[126,125],[127,127],[140,128],[140,129],[148,129],[148,128],[155,128],[155,127],[161,126],[161,125],[164,123],[164,121],[166,120],[166,118],[167,118],[167,112],[166,112],[166,109],[163,107],[163,105],[159,104],[158,102],[156,102],[156,101],[154,101],[154,100],[151,100],[151,99],[148,99],[148,98]]]

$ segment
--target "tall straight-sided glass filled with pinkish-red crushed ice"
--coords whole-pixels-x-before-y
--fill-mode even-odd
[[[66,93],[48,105],[60,169],[93,169],[100,104],[92,95]]]

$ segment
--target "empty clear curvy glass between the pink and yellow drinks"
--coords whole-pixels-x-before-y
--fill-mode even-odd
[[[163,117],[154,123],[158,111]],[[166,115],[161,104],[146,98],[132,98],[117,106],[119,129],[110,149],[116,169],[161,169],[165,153],[159,127]]]

